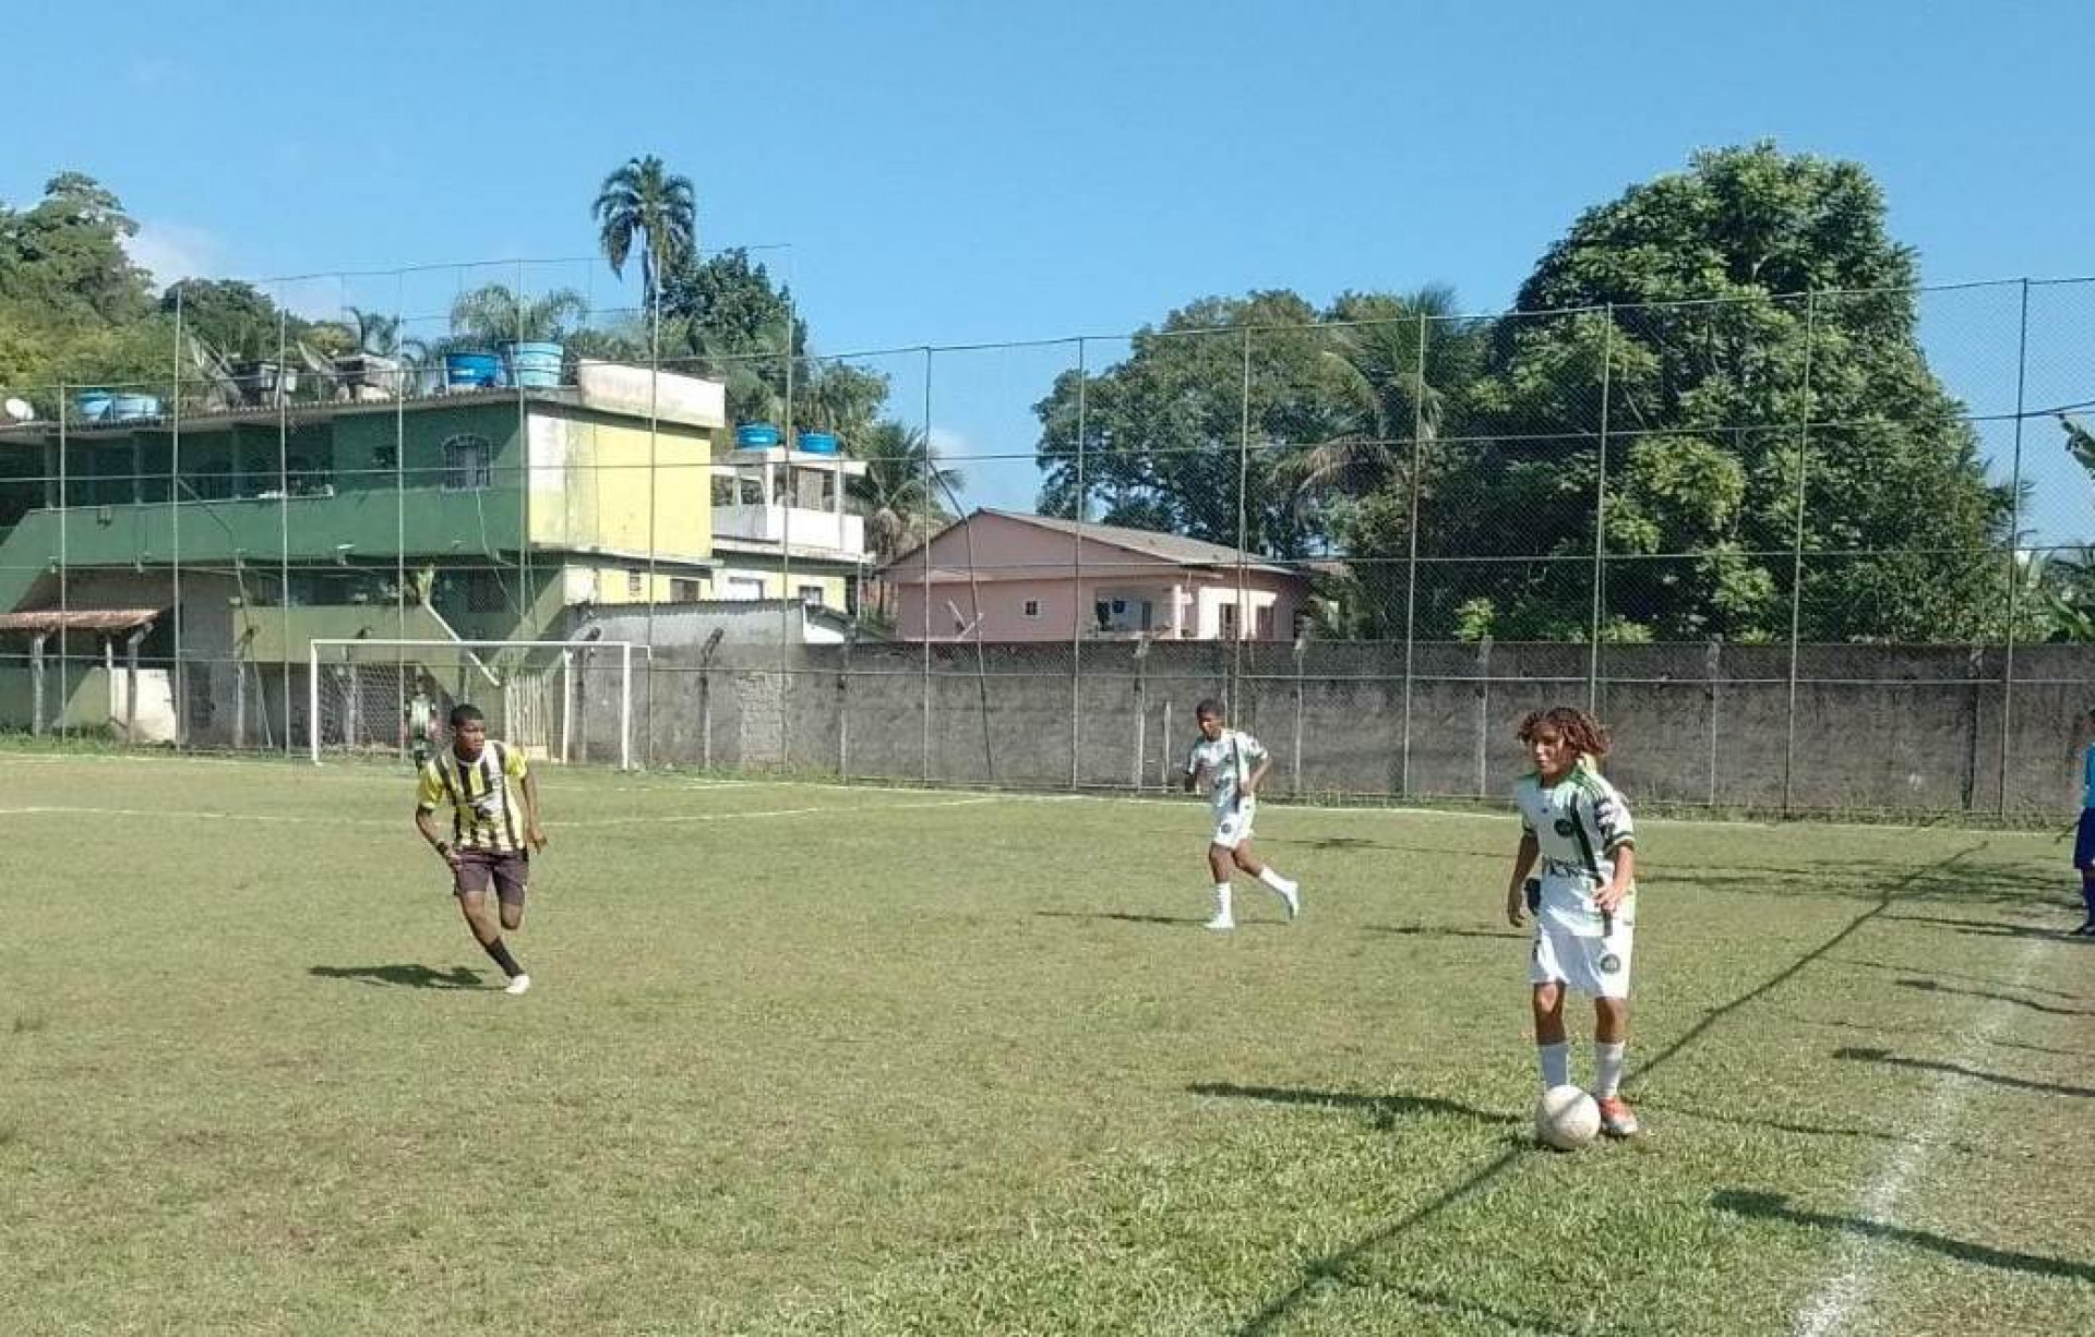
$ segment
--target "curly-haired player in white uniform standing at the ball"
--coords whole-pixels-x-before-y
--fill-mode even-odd
[[[1506,883],[1506,921],[1536,916],[1536,1050],[1542,1086],[1571,1080],[1565,1040],[1565,988],[1594,1006],[1594,1101],[1601,1130],[1636,1136],[1636,1113],[1622,1098],[1630,1036],[1630,950],[1636,937],[1636,831],[1622,793],[1601,776],[1607,730],[1582,709],[1559,705],[1521,720],[1521,743],[1536,770],[1521,776],[1521,847]],[[1542,864],[1542,877],[1527,875]]]

